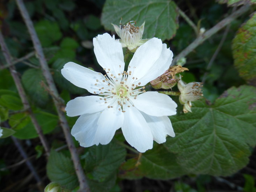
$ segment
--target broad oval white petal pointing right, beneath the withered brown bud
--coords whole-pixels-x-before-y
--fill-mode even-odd
[[[131,97],[134,106],[151,116],[170,116],[176,114],[177,104],[168,95],[158,93],[157,91],[148,91],[137,96],[137,99]]]

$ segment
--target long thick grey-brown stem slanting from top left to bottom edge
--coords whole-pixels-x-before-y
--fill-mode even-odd
[[[78,153],[76,151],[74,142],[73,142],[73,138],[72,135],[70,133],[70,127],[68,126],[65,114],[63,113],[63,111],[61,110],[61,105],[63,105],[63,101],[62,99],[57,99],[60,98],[57,88],[54,84],[52,75],[50,73],[49,67],[47,65],[46,59],[44,57],[44,53],[43,53],[43,49],[42,49],[42,45],[37,37],[34,25],[29,17],[28,11],[24,6],[24,3],[22,0],[16,0],[16,3],[20,9],[21,15],[23,17],[23,20],[25,21],[25,24],[27,25],[29,34],[31,36],[32,42],[34,44],[34,48],[36,50],[39,62],[41,64],[42,67],[42,71],[43,71],[43,75],[46,79],[46,82],[49,86],[49,89],[53,95],[53,101],[54,104],[56,106],[57,112],[58,112],[58,116],[60,119],[60,125],[63,129],[63,132],[65,134],[65,138],[68,144],[68,148],[70,149],[70,153],[71,153],[71,157],[75,166],[75,171],[76,171],[76,175],[78,176],[78,180],[79,180],[79,184],[80,184],[80,191],[84,191],[84,192],[89,192],[89,186],[87,184],[87,180],[85,177],[85,173],[83,172],[81,163],[80,163],[80,159],[78,156]]]

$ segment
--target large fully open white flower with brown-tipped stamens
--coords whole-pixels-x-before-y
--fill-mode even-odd
[[[62,75],[74,85],[101,96],[76,97],[67,103],[68,116],[78,116],[71,134],[83,147],[108,144],[122,127],[126,141],[139,152],[153,147],[153,140],[166,141],[175,136],[170,119],[177,104],[167,95],[155,91],[144,93],[148,82],[163,74],[171,64],[173,53],[152,38],[134,53],[124,71],[122,45],[105,33],[93,39],[94,52],[106,75],[73,62],[65,64]],[[142,88],[139,88],[142,87]]]

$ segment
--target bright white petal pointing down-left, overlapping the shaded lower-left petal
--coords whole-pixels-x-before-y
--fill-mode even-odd
[[[98,127],[94,139],[96,145],[98,143],[108,144],[115,135],[116,130],[123,125],[124,113],[118,110],[118,106],[116,104],[113,108],[106,108],[102,111],[98,119]]]

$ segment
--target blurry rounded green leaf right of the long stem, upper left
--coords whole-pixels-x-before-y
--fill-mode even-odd
[[[62,37],[57,22],[51,22],[47,20],[39,21],[35,24],[35,30],[43,47],[52,45]]]

